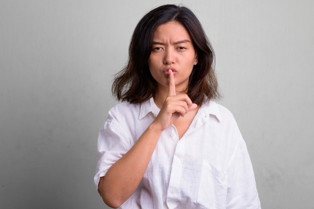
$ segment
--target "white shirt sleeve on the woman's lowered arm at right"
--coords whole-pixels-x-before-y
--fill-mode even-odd
[[[228,166],[226,208],[260,209],[250,156],[238,127],[235,129],[237,143]]]

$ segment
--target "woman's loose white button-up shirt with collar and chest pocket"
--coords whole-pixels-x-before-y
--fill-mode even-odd
[[[153,98],[110,109],[98,137],[97,187],[159,111]],[[119,208],[260,208],[250,157],[231,112],[210,101],[180,140],[174,125],[164,130],[140,184]]]

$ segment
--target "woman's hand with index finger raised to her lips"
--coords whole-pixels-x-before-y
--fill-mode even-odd
[[[189,111],[195,108],[197,108],[197,104],[193,103],[187,94],[177,95],[174,73],[170,69],[168,96],[154,121],[160,124],[162,130],[165,130],[180,116],[184,117]]]

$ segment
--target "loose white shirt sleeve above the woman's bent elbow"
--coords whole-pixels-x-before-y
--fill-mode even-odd
[[[101,127],[97,140],[97,166],[94,183],[98,188],[99,179],[132,146],[131,136],[125,132],[117,120],[109,114]]]

